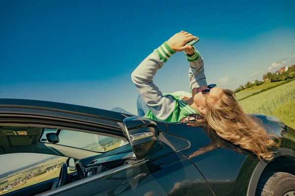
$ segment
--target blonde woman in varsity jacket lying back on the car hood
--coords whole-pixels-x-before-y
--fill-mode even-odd
[[[175,34],[155,49],[131,74],[140,93],[139,115],[145,114],[148,119],[171,123],[191,120],[193,117],[197,125],[209,126],[219,137],[254,152],[260,159],[271,160],[273,152],[269,149],[279,147],[273,141],[278,137],[267,134],[254,116],[243,112],[233,91],[218,88],[214,84],[207,85],[199,51],[192,46],[184,46],[195,38],[185,31]],[[162,94],[153,83],[153,76],[169,57],[183,50],[189,61],[191,94]],[[177,81],[177,75],[172,77]]]

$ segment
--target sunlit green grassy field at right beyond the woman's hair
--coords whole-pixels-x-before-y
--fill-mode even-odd
[[[295,81],[240,100],[239,104],[246,113],[273,115],[295,127]]]

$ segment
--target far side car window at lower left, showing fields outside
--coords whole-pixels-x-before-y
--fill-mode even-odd
[[[67,157],[36,153],[0,155],[0,195],[59,177],[66,160]]]

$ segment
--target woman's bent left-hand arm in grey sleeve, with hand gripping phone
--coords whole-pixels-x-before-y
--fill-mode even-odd
[[[174,110],[174,99],[163,96],[159,88],[153,83],[153,76],[161,69],[165,62],[176,51],[191,49],[191,46],[183,46],[186,42],[195,39],[189,33],[177,33],[167,42],[155,49],[131,74],[132,81],[136,85],[143,100],[148,105],[152,114],[159,120],[167,119]]]

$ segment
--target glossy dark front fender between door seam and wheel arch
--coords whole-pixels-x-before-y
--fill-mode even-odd
[[[189,147],[183,148],[182,144],[177,149],[196,165],[216,196],[247,193],[258,162],[255,156],[196,123],[168,123],[167,127],[165,135],[170,141],[173,142],[175,135],[189,141]]]

